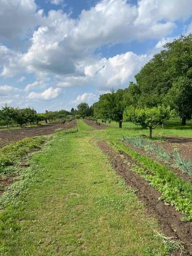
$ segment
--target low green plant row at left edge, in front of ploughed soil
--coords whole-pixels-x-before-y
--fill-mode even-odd
[[[3,147],[0,150],[0,173],[4,173],[6,166],[13,165],[18,158],[26,155],[30,150],[41,148],[45,140],[46,137],[43,136],[26,138]]]

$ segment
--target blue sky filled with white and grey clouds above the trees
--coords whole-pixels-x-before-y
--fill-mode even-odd
[[[129,86],[181,34],[191,0],[0,0],[0,106],[70,110]]]

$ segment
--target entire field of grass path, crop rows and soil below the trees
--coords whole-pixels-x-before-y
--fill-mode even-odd
[[[77,126],[0,131],[0,254],[191,255],[192,126]]]

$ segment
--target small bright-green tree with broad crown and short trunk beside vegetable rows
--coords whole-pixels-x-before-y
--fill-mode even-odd
[[[149,138],[152,138],[152,130],[160,123],[169,119],[170,107],[158,106],[153,108],[138,109],[127,107],[123,114],[124,121],[130,121],[143,128],[149,127]]]

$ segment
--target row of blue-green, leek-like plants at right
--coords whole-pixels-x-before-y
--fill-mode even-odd
[[[191,161],[183,158],[177,148],[175,148],[171,154],[163,147],[156,145],[155,143],[142,137],[123,137],[123,140],[130,143],[134,147],[144,149],[147,153],[156,156],[158,159],[162,159],[166,163],[171,162],[172,159],[174,166],[179,168],[183,173],[188,173],[190,176],[192,176]]]

